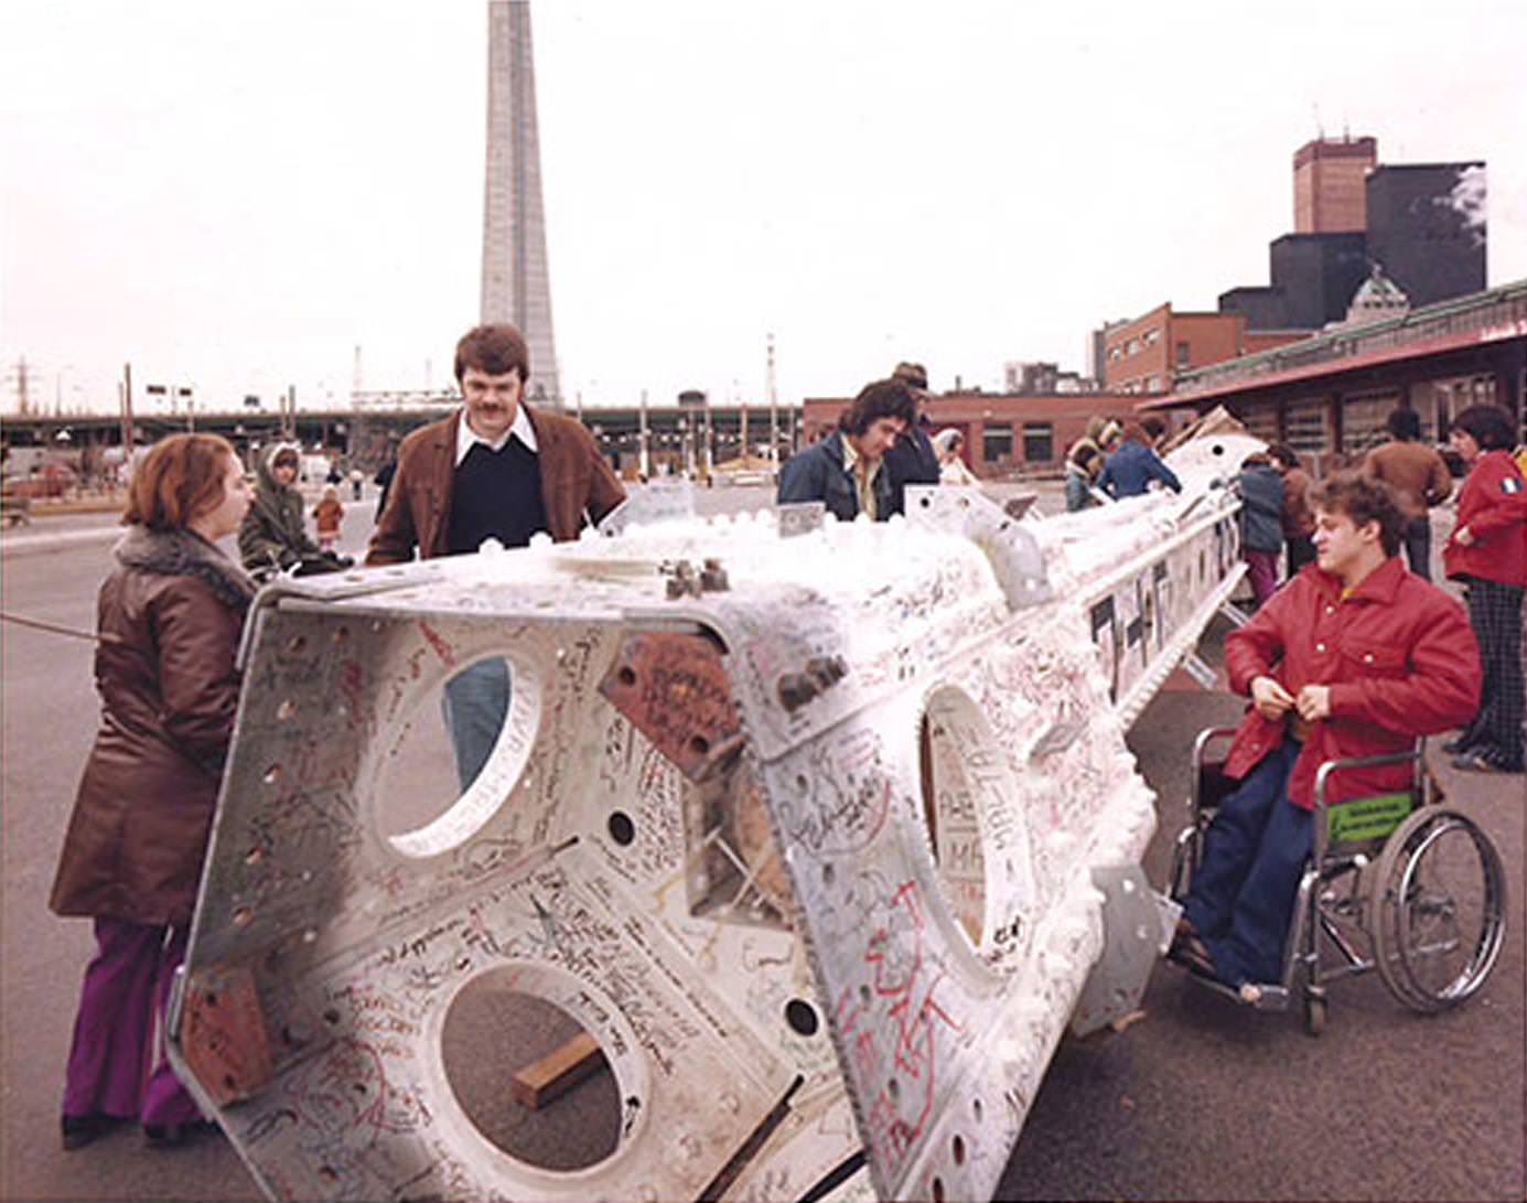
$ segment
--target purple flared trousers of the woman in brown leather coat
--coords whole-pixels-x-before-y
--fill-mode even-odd
[[[188,930],[98,918],[95,933],[69,1049],[64,1114],[142,1124],[202,1119],[165,1059],[165,1006]]]

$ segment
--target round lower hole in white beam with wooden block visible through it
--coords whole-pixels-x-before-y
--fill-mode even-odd
[[[621,1125],[640,1122],[649,1104],[646,1067],[634,1032],[625,1029],[609,998],[592,998],[573,974],[530,965],[505,965],[469,980],[450,1000],[440,1034],[440,1055],[455,1102],[495,1148],[550,1171],[586,1169],[621,1143]],[[583,1000],[582,1003],[579,1000]],[[592,1018],[597,1009],[603,1020]],[[600,1040],[597,1024],[615,1041]],[[592,1038],[597,1052],[586,1078],[539,1108],[521,1105],[510,1092],[516,1073]],[[611,1056],[609,1049],[628,1052]],[[626,1133],[629,1140],[634,1127]]]

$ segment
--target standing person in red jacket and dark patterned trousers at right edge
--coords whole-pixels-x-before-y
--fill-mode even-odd
[[[1452,420],[1452,447],[1469,476],[1443,568],[1466,585],[1469,621],[1484,663],[1480,711],[1445,745],[1457,768],[1522,771],[1522,586],[1527,585],[1527,485],[1512,460],[1512,420],[1475,405]]]

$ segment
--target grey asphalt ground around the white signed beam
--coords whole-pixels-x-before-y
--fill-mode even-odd
[[[710,508],[764,501],[716,490]],[[46,521],[44,521],[46,522]],[[47,550],[0,540],[8,612],[89,629],[110,519],[70,522]],[[96,533],[92,534],[90,531]],[[370,505],[353,505],[344,550],[359,550]],[[1211,656],[1222,631],[1212,631]],[[58,1099],[89,924],[46,908],[79,768],[95,730],[90,644],[3,624],[3,1066],[0,1192],[6,1200],[253,1200],[220,1139],[150,1151],[131,1130],[87,1150],[58,1148]],[[1161,882],[1182,821],[1186,748],[1234,719],[1223,693],[1162,693],[1132,747],[1157,789],[1148,855]],[[1325,1035],[1293,1014],[1254,1014],[1159,966],[1145,1015],[1122,1034],[1067,1040],[1029,1114],[1005,1198],[1521,1200],[1524,1176],[1522,777],[1449,777],[1454,801],[1500,846],[1510,881],[1501,963],[1469,1006],[1440,1017],[1400,1009],[1377,979],[1332,991]]]

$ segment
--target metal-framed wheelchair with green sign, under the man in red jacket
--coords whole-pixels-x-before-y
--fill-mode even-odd
[[[1194,740],[1190,823],[1177,835],[1168,884],[1174,902],[1188,896],[1202,864],[1209,820],[1240,785],[1223,772],[1234,734],[1211,727]],[[1286,1011],[1298,997],[1312,1037],[1325,1029],[1327,985],[1370,969],[1420,1012],[1458,1006],[1484,986],[1506,939],[1506,873],[1478,824],[1432,797],[1423,753],[1417,740],[1409,753],[1319,766],[1313,847],[1284,937],[1283,979],[1240,989],[1199,982],[1263,1011]],[[1409,789],[1327,805],[1332,772],[1405,762]]]

